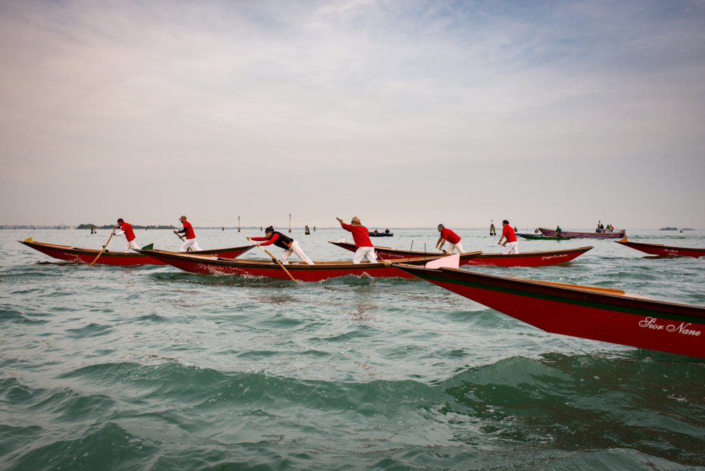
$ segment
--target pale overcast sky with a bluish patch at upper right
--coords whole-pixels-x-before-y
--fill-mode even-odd
[[[699,0],[6,0],[0,85],[0,224],[705,228]]]

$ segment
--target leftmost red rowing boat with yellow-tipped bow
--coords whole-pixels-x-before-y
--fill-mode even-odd
[[[100,250],[96,249],[84,249],[80,247],[70,247],[68,245],[34,242],[32,241],[32,238],[18,240],[18,242],[27,245],[27,247],[32,247],[35,250],[39,250],[39,252],[49,255],[49,257],[66,260],[67,262],[91,263],[100,253]],[[235,258],[243,255],[243,253],[247,252],[247,250],[250,250],[252,247],[255,247],[255,245],[244,245],[243,247],[231,247],[227,249],[200,250],[197,252],[188,253],[197,255],[212,255],[214,257]],[[96,264],[164,265],[164,262],[160,262],[157,259],[147,257],[147,255],[137,252],[112,252],[110,250],[105,250],[97,259]]]

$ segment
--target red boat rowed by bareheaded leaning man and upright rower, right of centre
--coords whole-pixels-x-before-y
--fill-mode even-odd
[[[329,240],[329,243],[355,252],[357,247],[350,242]],[[542,252],[524,252],[518,254],[485,254],[482,253],[477,257],[465,258],[461,257],[461,265],[494,265],[495,267],[544,267],[546,265],[556,265],[560,263],[570,262],[572,259],[579,257],[592,246],[578,247],[576,249],[566,250],[546,250]],[[427,257],[437,258],[443,256],[438,252],[419,252],[416,250],[398,250],[391,247],[374,247],[374,252],[384,259],[402,259],[408,257]],[[473,253],[473,252],[470,252]]]

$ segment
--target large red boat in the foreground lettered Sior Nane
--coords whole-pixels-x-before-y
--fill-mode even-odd
[[[705,357],[705,307],[457,268],[397,267],[553,334]]]

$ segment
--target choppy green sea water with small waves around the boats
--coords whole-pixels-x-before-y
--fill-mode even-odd
[[[437,238],[393,232],[375,242]],[[465,250],[500,249],[458,232]],[[259,235],[197,230],[204,248],[245,233]],[[705,247],[705,231],[627,233]],[[0,231],[0,469],[705,469],[703,360],[547,334],[424,281],[91,268],[16,242],[99,248],[108,235]],[[313,259],[350,259],[326,243],[345,235],[293,232]],[[474,269],[705,305],[705,259],[608,240],[520,250],[582,245],[595,248],[563,266]]]

